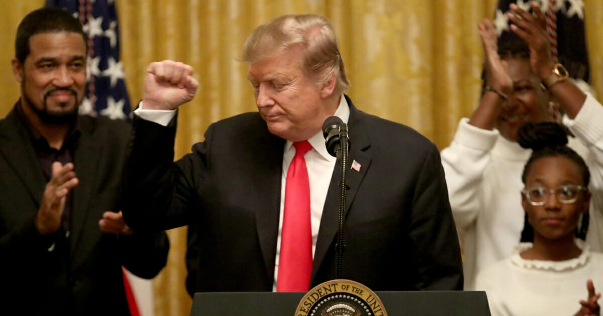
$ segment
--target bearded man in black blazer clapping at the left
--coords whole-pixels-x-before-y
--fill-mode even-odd
[[[86,37],[71,13],[33,11],[17,29],[21,98],[0,120],[0,314],[130,315],[122,265],[165,265],[165,233],[121,215],[130,126],[78,116]]]

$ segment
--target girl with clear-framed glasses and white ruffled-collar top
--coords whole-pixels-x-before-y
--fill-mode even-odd
[[[519,130],[519,144],[533,150],[521,191],[532,242],[478,273],[476,288],[486,291],[493,316],[600,313],[603,253],[576,238],[588,228],[590,173],[566,146],[566,131],[552,122]]]

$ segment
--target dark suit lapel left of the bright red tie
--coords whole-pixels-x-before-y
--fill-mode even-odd
[[[265,126],[264,121],[262,124]],[[266,273],[272,284],[276,242],[279,234],[280,189],[283,170],[285,140],[271,135],[267,128],[251,159],[254,179],[259,185],[259,198],[255,199],[257,235]]]

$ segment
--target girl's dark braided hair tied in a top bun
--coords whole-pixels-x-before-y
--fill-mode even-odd
[[[563,125],[555,122],[526,123],[517,132],[517,143],[527,149],[532,149],[532,155],[529,157],[525,167],[523,167],[522,182],[526,183],[526,178],[534,161],[552,156],[562,156],[569,159],[578,167],[578,172],[582,176],[584,187],[588,187],[590,182],[589,167],[586,166],[584,159],[570,147],[567,147],[567,135],[571,132]],[[582,222],[576,231],[576,237],[586,239],[586,232],[589,228],[589,214],[582,215]],[[525,215],[521,241],[533,241],[534,228],[528,223],[528,215]]]

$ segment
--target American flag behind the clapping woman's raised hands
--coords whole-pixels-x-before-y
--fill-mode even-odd
[[[581,88],[590,84],[589,55],[584,34],[584,2],[577,0],[537,0],[543,13],[549,12],[549,21],[556,34],[558,60],[566,67],[570,77]],[[531,0],[499,0],[493,24],[500,40],[518,39],[509,28],[507,12],[511,3],[531,11]]]

